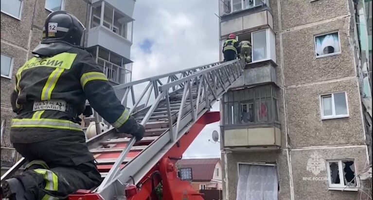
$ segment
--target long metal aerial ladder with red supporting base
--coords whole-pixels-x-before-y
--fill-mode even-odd
[[[220,120],[219,112],[210,108],[242,76],[243,68],[237,59],[114,86],[124,91],[122,104],[131,102],[129,112],[141,121],[145,135],[136,141],[109,127],[89,138],[103,182],[76,191],[69,200],[159,200],[160,185],[163,200],[203,200],[179,178],[175,163],[207,124]],[[1,176],[1,183],[27,162],[21,158]]]

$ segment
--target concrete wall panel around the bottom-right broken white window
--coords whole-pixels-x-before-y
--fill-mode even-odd
[[[355,159],[355,175],[361,172],[366,166],[367,154],[366,147],[350,148],[330,148],[315,150],[292,150],[291,165],[294,182],[295,200],[359,200],[360,194],[356,191],[335,191],[328,190],[328,177],[326,171],[326,161],[335,159]],[[308,160],[311,155],[319,155],[317,164],[320,163],[325,168],[315,175],[307,171]],[[310,178],[304,180],[304,178]]]

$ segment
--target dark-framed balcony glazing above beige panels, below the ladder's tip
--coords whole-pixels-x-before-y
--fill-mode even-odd
[[[223,100],[225,124],[278,121],[276,88],[271,85],[230,91]]]

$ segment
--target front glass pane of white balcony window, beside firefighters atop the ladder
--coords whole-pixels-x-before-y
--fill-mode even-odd
[[[266,30],[252,33],[252,61],[267,58]]]

